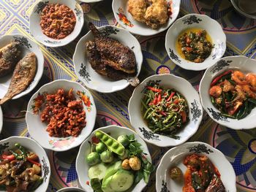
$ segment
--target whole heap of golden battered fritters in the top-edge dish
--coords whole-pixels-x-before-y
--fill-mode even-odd
[[[129,0],[128,12],[151,28],[158,28],[169,18],[166,0]]]

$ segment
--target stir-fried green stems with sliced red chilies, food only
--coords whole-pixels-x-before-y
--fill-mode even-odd
[[[148,82],[141,99],[141,112],[154,133],[179,139],[176,133],[189,121],[186,99],[175,89],[162,88],[158,82]]]

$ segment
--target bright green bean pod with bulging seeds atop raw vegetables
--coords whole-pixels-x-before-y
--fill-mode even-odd
[[[110,151],[113,151],[113,153],[118,155],[124,155],[124,146],[116,139],[100,130],[96,131],[95,135],[108,147]]]

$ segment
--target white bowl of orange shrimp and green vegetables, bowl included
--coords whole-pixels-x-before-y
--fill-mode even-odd
[[[199,91],[204,109],[217,123],[233,129],[255,128],[255,59],[222,58],[206,70]]]

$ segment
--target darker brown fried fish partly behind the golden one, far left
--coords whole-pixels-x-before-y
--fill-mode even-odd
[[[18,42],[10,42],[0,49],[0,77],[4,77],[15,68],[20,56],[18,45]]]

